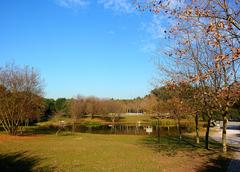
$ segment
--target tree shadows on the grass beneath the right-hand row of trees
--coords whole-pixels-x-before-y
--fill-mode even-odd
[[[167,156],[175,156],[179,151],[185,152],[186,156],[195,156],[199,158],[206,157],[207,162],[204,163],[202,168],[196,169],[198,172],[222,172],[226,171],[228,164],[231,160],[230,154],[222,154],[222,145],[212,139],[209,141],[209,150],[204,149],[204,139],[200,139],[200,143],[197,144],[194,137],[183,136],[179,141],[178,136],[162,136],[160,143],[156,137],[146,137],[141,140],[141,143],[145,146],[153,149],[154,151]],[[229,152],[234,150],[229,149]],[[194,154],[193,154],[194,153]]]

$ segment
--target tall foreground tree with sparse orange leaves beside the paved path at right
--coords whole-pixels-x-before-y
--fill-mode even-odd
[[[173,23],[168,33],[175,41],[178,75],[201,88],[202,107],[208,124],[215,112],[223,119],[222,143],[226,146],[229,109],[239,93],[240,3],[227,0],[142,1],[138,7],[155,14],[164,13]],[[209,133],[207,128],[206,139]]]

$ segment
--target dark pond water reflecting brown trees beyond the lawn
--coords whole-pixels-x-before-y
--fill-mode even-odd
[[[68,130],[72,130],[72,126],[67,127]],[[146,132],[146,128],[152,128],[151,133]],[[161,135],[176,135],[178,129],[176,126],[171,127],[159,127]],[[182,126],[182,132],[190,132],[192,128]],[[157,127],[150,126],[132,126],[132,125],[101,125],[101,126],[75,126],[75,132],[81,133],[93,133],[93,134],[127,134],[127,135],[157,135]]]

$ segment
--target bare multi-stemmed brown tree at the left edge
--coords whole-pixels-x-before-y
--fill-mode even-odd
[[[0,123],[6,132],[18,134],[22,125],[37,119],[42,108],[39,73],[14,64],[0,68]]]

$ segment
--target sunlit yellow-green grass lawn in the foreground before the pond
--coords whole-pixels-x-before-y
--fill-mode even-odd
[[[1,171],[224,171],[227,158],[219,144],[213,150],[192,138],[61,133],[8,136],[0,134]],[[17,169],[17,170],[16,170]]]

